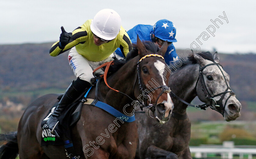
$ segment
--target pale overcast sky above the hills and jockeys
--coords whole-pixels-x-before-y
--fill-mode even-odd
[[[137,24],[154,25],[160,19],[172,21],[177,29],[176,49],[190,48],[222,53],[256,53],[256,1],[171,1],[171,0],[1,0],[0,44],[44,43],[59,40],[61,26],[67,32],[92,19],[101,9],[119,13],[127,30]],[[222,19],[219,16],[225,17]],[[223,24],[214,21],[218,18]],[[228,23],[227,23],[228,21]],[[214,36],[207,31],[215,27]],[[210,37],[196,40],[203,32]],[[205,35],[205,34],[204,34]],[[195,44],[194,44],[195,46]]]

